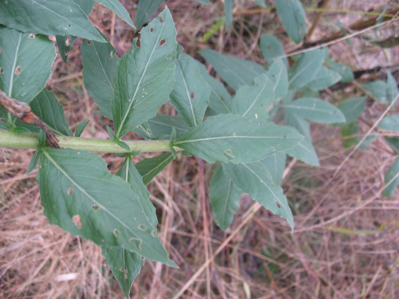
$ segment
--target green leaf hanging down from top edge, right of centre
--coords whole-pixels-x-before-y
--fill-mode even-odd
[[[299,0],[276,0],[277,14],[288,36],[300,43],[306,33],[305,10]]]

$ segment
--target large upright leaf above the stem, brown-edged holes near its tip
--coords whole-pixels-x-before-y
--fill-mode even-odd
[[[168,7],[140,34],[141,47],[135,39],[114,77],[112,115],[117,139],[155,116],[168,101],[175,80],[176,29]]]

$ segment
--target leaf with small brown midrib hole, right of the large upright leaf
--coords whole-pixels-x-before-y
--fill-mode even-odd
[[[190,127],[202,123],[208,107],[210,90],[200,74],[196,60],[190,55],[179,53],[175,59],[176,82],[173,85],[170,103]]]

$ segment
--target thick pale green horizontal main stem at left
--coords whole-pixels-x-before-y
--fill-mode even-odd
[[[80,137],[57,136],[61,148],[81,149],[94,152],[127,152],[113,140],[89,139]],[[170,151],[168,140],[124,140],[131,151]],[[1,148],[37,149],[39,142],[37,134],[15,134],[0,130]],[[177,149],[178,150],[178,149]]]

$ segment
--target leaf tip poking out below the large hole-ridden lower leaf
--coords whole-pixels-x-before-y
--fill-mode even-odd
[[[105,257],[119,286],[121,286],[123,294],[129,299],[132,283],[140,273],[145,259],[141,258],[139,254],[128,251],[123,247],[102,246],[101,253]]]

